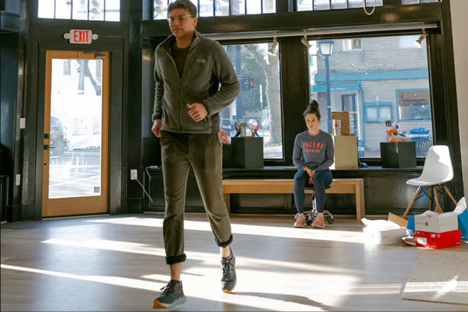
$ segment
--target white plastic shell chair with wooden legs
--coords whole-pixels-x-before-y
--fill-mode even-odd
[[[453,178],[454,169],[452,167],[452,160],[450,159],[449,147],[446,145],[432,146],[427,153],[426,161],[424,162],[423,173],[421,176],[419,178],[406,181],[406,184],[417,186],[418,190],[416,191],[416,194],[414,195],[413,200],[409,204],[408,208],[406,208],[403,217],[406,217],[409,209],[418,199],[419,192],[421,192],[423,187],[429,187],[429,209],[432,209],[432,194],[434,192],[434,198],[436,199],[436,208],[434,210],[436,212],[443,212],[439,205],[439,197],[436,186],[443,187],[452,201],[455,203],[455,206],[457,206],[457,201],[452,196],[452,193],[450,193],[447,186],[444,185],[445,183],[452,181]],[[424,193],[427,195],[426,192]]]

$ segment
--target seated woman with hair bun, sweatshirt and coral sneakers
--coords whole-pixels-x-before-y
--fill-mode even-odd
[[[294,142],[293,163],[299,169],[294,177],[294,200],[297,207],[294,227],[304,227],[306,224],[304,188],[313,184],[318,214],[312,226],[322,228],[325,227],[325,188],[332,184],[329,168],[334,162],[335,149],[332,136],[319,129],[320,110],[317,101],[307,106],[304,119],[308,130],[299,133]]]

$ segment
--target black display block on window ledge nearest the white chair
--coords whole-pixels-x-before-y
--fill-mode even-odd
[[[380,142],[382,168],[416,168],[416,142]]]

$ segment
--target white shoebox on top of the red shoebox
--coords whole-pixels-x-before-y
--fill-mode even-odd
[[[444,233],[458,230],[458,215],[455,212],[447,212],[438,216],[414,216],[416,231],[430,233]]]

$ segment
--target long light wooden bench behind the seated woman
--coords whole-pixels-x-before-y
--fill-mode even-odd
[[[293,179],[229,179],[223,180],[224,200],[231,213],[231,194],[290,194],[294,193]],[[306,190],[306,193],[314,193]],[[365,217],[364,179],[333,179],[331,194],[355,194],[357,219]]]

